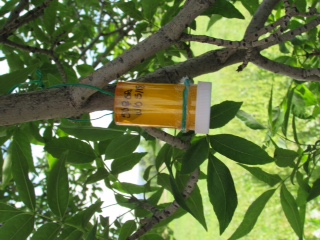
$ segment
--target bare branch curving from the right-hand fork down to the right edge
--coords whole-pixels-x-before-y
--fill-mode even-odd
[[[274,62],[260,54],[252,57],[251,62],[260,68],[273,73],[282,74],[299,81],[316,81],[320,82],[320,69],[302,69],[291,67],[282,63]]]

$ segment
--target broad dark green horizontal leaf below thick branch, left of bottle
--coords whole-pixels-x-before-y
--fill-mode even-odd
[[[63,152],[68,151],[66,162],[72,164],[90,163],[96,158],[89,144],[68,137],[53,139],[46,143],[45,150],[55,158],[61,158]]]

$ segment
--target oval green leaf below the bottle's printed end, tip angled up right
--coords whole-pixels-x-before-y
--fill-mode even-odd
[[[139,135],[123,135],[113,139],[106,149],[106,159],[120,158],[133,153],[139,146]]]

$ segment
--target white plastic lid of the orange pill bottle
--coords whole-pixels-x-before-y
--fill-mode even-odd
[[[195,132],[208,134],[210,127],[211,82],[198,82]]]

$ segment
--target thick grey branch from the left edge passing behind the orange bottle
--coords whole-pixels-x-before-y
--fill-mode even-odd
[[[185,76],[194,78],[242,62],[245,56],[245,50],[237,50],[231,55],[229,53],[229,49],[214,50],[186,62],[159,69],[138,79],[138,81],[178,83]],[[80,90],[84,89],[78,88]],[[114,99],[100,92],[92,95],[83,106],[75,107],[70,102],[69,90],[70,87],[0,96],[0,126],[35,120],[69,118],[99,110],[113,111]],[[104,90],[114,91],[109,87],[104,88]],[[9,104],[10,102],[12,104]]]

